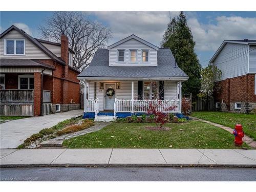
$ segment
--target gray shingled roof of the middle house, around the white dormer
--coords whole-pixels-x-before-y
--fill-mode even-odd
[[[167,48],[160,48],[157,53],[158,66],[155,67],[110,67],[109,50],[98,49],[90,66],[84,69],[78,77],[148,77],[148,78],[188,78],[175,65],[175,59]]]

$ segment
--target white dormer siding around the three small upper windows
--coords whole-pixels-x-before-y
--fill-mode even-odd
[[[118,62],[118,50],[124,50],[124,63]],[[137,50],[137,62],[130,62],[130,50]],[[148,51],[148,62],[142,62],[142,51]],[[110,66],[157,66],[157,51],[142,42],[130,39],[110,50]]]

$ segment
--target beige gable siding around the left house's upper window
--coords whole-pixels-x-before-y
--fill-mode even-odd
[[[25,55],[5,55],[4,54],[4,42],[5,39],[26,39]],[[51,59],[48,55],[37,48],[30,40],[25,38],[22,34],[16,30],[11,30],[0,40],[0,57],[5,59]]]

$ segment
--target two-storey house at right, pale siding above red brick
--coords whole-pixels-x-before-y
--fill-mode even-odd
[[[209,61],[222,71],[215,93],[223,111],[248,113],[256,109],[256,40],[224,40]],[[218,103],[217,103],[218,105]]]

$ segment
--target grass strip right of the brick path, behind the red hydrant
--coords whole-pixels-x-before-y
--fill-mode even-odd
[[[234,128],[236,124],[242,124],[244,133],[256,140],[256,115],[228,112],[193,112],[192,116],[231,128]]]

